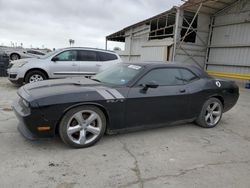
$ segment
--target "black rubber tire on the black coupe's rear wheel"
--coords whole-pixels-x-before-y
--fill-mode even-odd
[[[220,115],[218,115],[216,118],[215,118],[215,122],[214,124],[212,123],[209,123],[208,121],[206,121],[206,116],[211,116],[211,113],[213,112],[210,112],[210,115],[208,114],[208,108],[211,109],[211,105],[213,104],[218,104],[218,107],[216,107],[218,110],[216,111],[217,113],[220,111]],[[219,114],[219,113],[218,113]],[[217,98],[210,98],[208,99],[203,107],[202,107],[202,110],[201,110],[201,113],[199,115],[199,117],[196,119],[196,124],[198,124],[200,127],[203,127],[203,128],[213,128],[215,127],[221,120],[221,117],[222,117],[222,114],[223,114],[223,105],[221,103],[221,101]],[[208,118],[209,119],[209,118]],[[211,120],[209,120],[211,121]],[[211,121],[212,122],[212,121]]]

